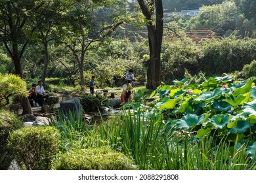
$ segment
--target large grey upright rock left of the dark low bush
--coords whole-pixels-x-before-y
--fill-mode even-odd
[[[75,116],[75,118],[79,117],[81,112],[80,99],[72,98],[62,101],[62,103],[60,103],[60,111],[67,117],[70,116],[70,113],[72,116]]]

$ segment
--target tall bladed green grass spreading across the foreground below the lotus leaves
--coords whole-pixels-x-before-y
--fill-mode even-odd
[[[75,119],[60,116],[50,123],[60,130],[62,151],[108,145],[135,159],[139,169],[256,169],[256,158],[249,158],[246,143],[216,141],[211,135],[196,139],[164,124],[154,113],[148,116],[144,111],[124,110],[93,127],[82,118]]]

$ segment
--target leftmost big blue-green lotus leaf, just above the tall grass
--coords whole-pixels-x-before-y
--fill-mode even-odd
[[[181,129],[191,129],[196,127],[196,125],[200,125],[204,120],[205,115],[197,116],[196,114],[187,114],[183,116],[181,119],[177,120],[177,127]]]

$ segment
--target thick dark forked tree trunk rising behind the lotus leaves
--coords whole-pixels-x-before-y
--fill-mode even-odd
[[[146,18],[150,48],[146,88],[155,90],[161,84],[160,54],[163,37],[163,5],[162,0],[138,0],[138,3]]]

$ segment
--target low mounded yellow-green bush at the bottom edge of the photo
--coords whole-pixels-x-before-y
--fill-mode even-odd
[[[108,147],[70,150],[53,161],[58,170],[130,170],[133,160]]]

